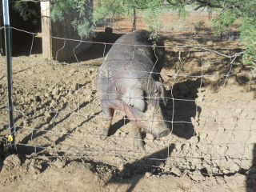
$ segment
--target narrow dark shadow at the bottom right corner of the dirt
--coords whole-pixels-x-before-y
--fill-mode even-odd
[[[246,179],[246,192],[256,191],[256,144],[254,144],[253,154],[254,159]]]

